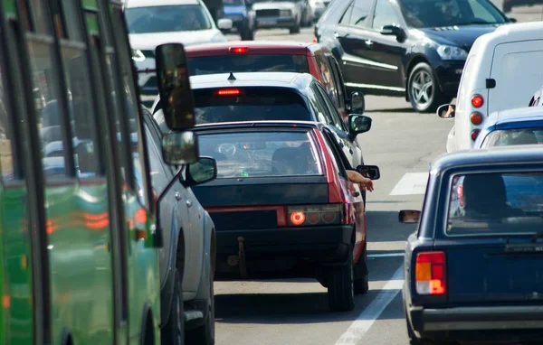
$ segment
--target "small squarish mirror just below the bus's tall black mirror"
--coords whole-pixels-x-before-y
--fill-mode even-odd
[[[184,165],[198,161],[198,137],[194,132],[173,132],[162,136],[162,157],[169,165]]]

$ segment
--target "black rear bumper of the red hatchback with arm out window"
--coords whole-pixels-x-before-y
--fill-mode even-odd
[[[238,238],[243,238],[248,260],[272,255],[341,264],[347,259],[352,231],[352,225],[217,231],[217,256],[237,255]]]

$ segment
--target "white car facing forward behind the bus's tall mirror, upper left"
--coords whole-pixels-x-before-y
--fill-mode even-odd
[[[163,43],[193,45],[226,42],[221,30],[232,29],[232,20],[214,20],[201,0],[126,0],[125,16],[130,46],[138,70],[155,69],[155,48]],[[148,106],[157,95],[156,73],[140,72],[141,98]],[[149,95],[152,97],[148,98]]]

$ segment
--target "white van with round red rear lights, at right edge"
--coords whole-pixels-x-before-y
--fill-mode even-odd
[[[543,84],[541,61],[541,22],[504,25],[481,35],[466,60],[456,106],[437,109],[440,117],[454,117],[447,152],[471,149],[492,112],[526,107]]]

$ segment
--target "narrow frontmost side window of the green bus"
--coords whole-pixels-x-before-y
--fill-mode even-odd
[[[122,94],[117,97],[118,102],[123,102],[126,105],[126,115],[129,119],[129,136],[130,136],[130,146],[132,152],[132,162],[137,179],[137,188],[138,194],[140,195],[140,202],[144,206],[148,206],[148,183],[146,181],[147,174],[145,173],[145,147],[141,141],[142,130],[141,122],[138,116],[138,101],[137,94],[135,89],[135,80],[132,69],[132,59],[130,51],[130,45],[127,40],[128,33],[126,31],[126,23],[124,15],[120,8],[115,7],[113,9],[113,31],[115,33],[115,42],[117,45],[117,53],[119,54],[120,61],[120,81],[121,81],[121,91]],[[143,195],[141,195],[143,194]]]

